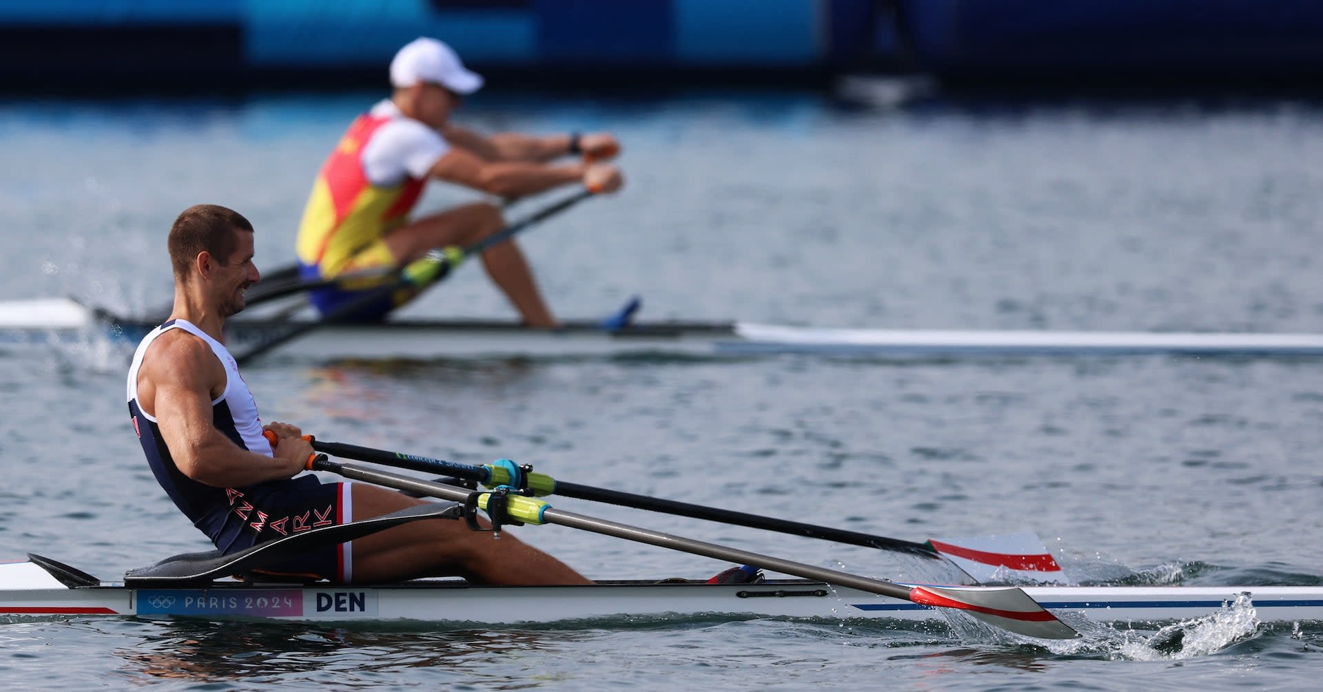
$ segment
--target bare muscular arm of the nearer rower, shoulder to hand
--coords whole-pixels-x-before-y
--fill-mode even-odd
[[[168,332],[148,353],[139,370],[139,393],[148,390],[161,438],[184,475],[208,486],[234,487],[303,470],[312,447],[302,439],[282,438],[273,459],[239,447],[216,429],[212,393],[225,388],[225,368],[201,339]]]

